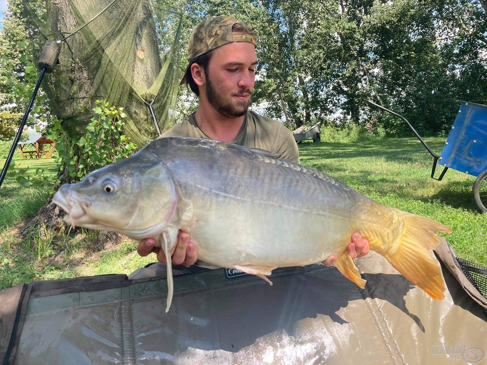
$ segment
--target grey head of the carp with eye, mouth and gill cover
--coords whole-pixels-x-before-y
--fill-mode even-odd
[[[62,185],[53,202],[64,209],[64,220],[73,226],[140,240],[167,228],[177,195],[164,164],[129,158],[93,171],[79,183]]]

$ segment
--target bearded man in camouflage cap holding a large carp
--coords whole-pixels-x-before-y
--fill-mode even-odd
[[[209,17],[191,32],[189,65],[181,83],[199,97],[196,112],[176,124],[161,137],[206,138],[278,153],[280,158],[299,164],[299,151],[289,129],[280,122],[248,110],[255,84],[256,38],[246,24],[227,16]],[[140,241],[137,252],[154,252],[157,260],[166,256],[154,239]],[[354,233],[347,251],[352,258],[369,253],[367,240]],[[172,263],[193,265],[198,257],[196,245],[187,232],[180,232],[171,250]],[[333,265],[337,255],[322,261]]]

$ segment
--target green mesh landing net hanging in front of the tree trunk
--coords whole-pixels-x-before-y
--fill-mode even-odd
[[[49,107],[72,136],[85,133],[98,99],[125,108],[124,132],[138,146],[172,126],[179,88],[180,11],[151,0],[22,3],[35,55],[46,40],[77,31],[61,43],[60,64],[42,83]]]

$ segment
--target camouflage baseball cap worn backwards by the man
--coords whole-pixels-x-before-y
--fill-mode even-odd
[[[218,17],[208,17],[195,26],[191,31],[191,37],[189,37],[187,50],[189,64],[196,57],[228,43],[249,42],[257,46],[254,36],[243,33],[232,33],[232,27],[235,23],[241,23],[241,21],[226,15],[220,15]],[[180,85],[186,80],[186,74],[188,72],[191,72],[189,65],[183,73]]]

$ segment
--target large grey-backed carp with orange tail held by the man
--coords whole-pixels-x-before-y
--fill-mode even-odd
[[[275,157],[275,156],[274,156]],[[153,237],[168,258],[178,230],[198,258],[248,274],[304,266],[337,254],[335,266],[360,288],[365,280],[346,247],[354,232],[414,284],[440,300],[444,281],[430,251],[443,224],[373,201],[309,167],[243,146],[198,138],[151,142],[128,159],[64,184],[53,201],[76,226]]]

